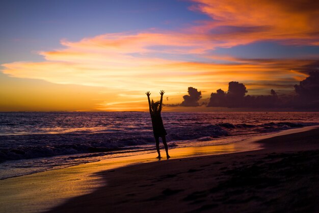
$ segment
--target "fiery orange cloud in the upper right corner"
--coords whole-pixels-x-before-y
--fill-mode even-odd
[[[190,9],[207,14],[194,29],[214,35],[224,47],[273,40],[293,45],[319,45],[316,1],[258,2],[243,0],[193,0]]]

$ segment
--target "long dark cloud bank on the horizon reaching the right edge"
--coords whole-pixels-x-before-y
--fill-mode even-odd
[[[279,96],[274,90],[269,95],[245,96],[246,86],[229,82],[228,92],[218,89],[210,94],[207,107],[245,107],[245,108],[293,108],[319,109],[319,72],[309,72],[309,76],[295,85],[295,94]]]

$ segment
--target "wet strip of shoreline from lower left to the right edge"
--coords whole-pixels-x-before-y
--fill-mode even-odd
[[[261,136],[261,137],[274,138],[277,136],[280,137],[280,135],[284,136],[283,134],[294,134],[296,132],[297,132],[296,134],[300,134],[301,132],[305,132],[305,131],[309,132],[311,131],[310,129],[314,129],[314,128],[318,128],[318,126],[289,129],[279,133],[270,134],[270,135]],[[260,139],[262,138],[259,138],[259,140]],[[251,143],[254,143],[253,141],[256,141],[256,138],[254,138],[252,141],[246,141],[246,143],[250,143],[251,145]],[[237,142],[234,144],[240,145],[241,142]],[[260,152],[261,150],[258,150],[258,149],[261,149],[262,143],[261,144],[254,143],[254,144],[256,145],[254,150],[257,150],[257,151],[248,151],[248,152],[262,153]],[[225,153],[225,151],[228,151],[228,153],[235,153],[233,152],[234,147],[225,147],[224,145],[222,145],[221,147],[219,147],[220,148],[219,150],[219,148],[216,149],[218,146],[219,145],[211,146],[211,147],[214,147],[215,150],[209,150],[209,149],[207,150],[207,149],[203,149],[203,147],[196,147],[195,149],[194,148],[172,149],[170,152],[170,155],[173,157],[173,159],[170,159],[169,161],[161,160],[159,162],[163,163],[164,161],[163,164],[167,164],[176,160],[177,161],[179,160],[183,161],[186,159],[190,160],[196,157],[205,158],[205,156],[206,157],[218,157],[218,156],[225,157],[226,156],[227,158],[234,154],[228,155],[227,152]],[[242,143],[242,146],[244,146],[243,148],[245,148],[245,146],[247,148],[247,144],[243,145]],[[192,150],[193,154],[190,154],[190,149],[193,149]],[[240,147],[238,147],[237,149],[240,149]],[[179,152],[177,154],[178,157],[175,157],[174,150],[176,150],[175,152]],[[263,150],[267,150],[267,147],[265,147]],[[220,154],[218,152],[220,152]],[[243,150],[239,152],[243,153]],[[214,153],[214,155],[211,155],[212,153]],[[236,153],[238,154],[238,152]],[[244,153],[247,153],[247,151]],[[26,176],[20,176],[20,177],[14,177],[14,178],[1,180],[0,185],[1,185],[1,191],[2,191],[1,193],[2,199],[0,199],[1,200],[0,206],[2,206],[1,207],[2,209],[5,208],[4,212],[41,212],[44,210],[48,210],[49,208],[52,208],[54,206],[56,206],[56,208],[59,208],[59,206],[57,207],[57,204],[60,204],[60,206],[63,206],[62,203],[65,203],[65,202],[69,203],[69,201],[72,201],[72,199],[79,198],[81,197],[81,195],[87,196],[87,195],[94,194],[95,192],[99,191],[100,188],[106,187],[105,181],[107,182],[109,181],[105,180],[105,178],[103,177],[103,175],[105,175],[104,173],[106,173],[105,171],[112,171],[114,169],[115,171],[125,170],[125,168],[127,169],[130,167],[144,167],[145,164],[159,163],[159,162],[156,162],[156,159],[153,159],[154,153],[139,155],[140,158],[137,157],[135,159],[130,159],[128,163],[127,158],[131,158],[131,157],[132,156],[120,157],[119,159],[108,159],[107,162],[105,162],[105,160],[101,160],[99,162],[85,163],[85,164],[75,165],[75,166],[64,168],[64,169],[50,170],[50,171],[35,173],[32,175],[26,175]],[[150,162],[150,163],[144,163],[144,162]],[[6,180],[10,180],[10,181],[6,181]],[[47,182],[43,183],[43,181],[44,182],[48,181],[50,183],[47,183]],[[18,183],[22,183],[22,184],[18,184]],[[82,184],[85,184],[86,187],[81,187]],[[68,187],[65,187],[66,185]],[[55,186],[55,190],[52,190],[52,186]],[[23,190],[23,188],[26,190]],[[28,192],[28,189],[31,191]],[[8,196],[8,194],[10,196]],[[46,194],[46,195],[41,196],[43,194]],[[40,196],[40,197],[37,197],[37,196]],[[52,196],[54,196],[54,199],[52,199]],[[34,199],[32,199],[32,197]],[[22,206],[16,205],[15,199],[18,199],[18,198],[22,200],[24,199],[25,202],[22,203],[23,204]],[[38,206],[37,209],[32,207],[32,205],[35,205],[35,204]]]

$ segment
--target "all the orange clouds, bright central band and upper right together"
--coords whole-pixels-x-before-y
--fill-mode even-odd
[[[100,87],[101,93],[113,94],[99,103],[97,109],[103,110],[115,110],[119,105],[121,109],[143,108],[146,90],[155,93],[155,98],[159,90],[167,90],[172,104],[181,102],[181,94],[189,86],[208,91],[203,92],[203,98],[208,98],[216,89],[227,90],[230,81],[243,82],[258,93],[264,91],[261,84],[292,90],[291,84],[305,78],[302,67],[313,61],[240,59],[210,52],[260,40],[318,45],[317,6],[304,7],[299,1],[287,5],[282,0],[193,2],[196,4],[191,9],[211,20],[178,31],[108,33],[75,42],[62,40],[62,49],[40,52],[45,61],[2,64],[2,72],[17,78]],[[185,56],[192,57],[193,62]]]

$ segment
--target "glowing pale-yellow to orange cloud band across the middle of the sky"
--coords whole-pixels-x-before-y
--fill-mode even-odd
[[[135,39],[132,42],[136,43]],[[225,57],[228,60],[225,64],[187,62],[133,56],[126,54],[129,48],[124,53],[108,47],[101,48],[105,43],[110,41],[101,40],[100,36],[67,44],[63,42],[67,45],[65,49],[41,53],[46,61],[3,64],[3,73],[11,77],[41,79],[59,84],[99,86],[118,92],[140,91],[144,96],[143,91],[149,88],[165,88],[178,93],[189,86],[211,91],[232,80],[251,83],[281,79],[296,81],[296,76],[304,77],[304,74],[296,71],[298,67],[311,62],[232,57]],[[127,40],[124,43],[131,46]],[[117,45],[124,44],[120,42]],[[138,49],[144,50],[146,46],[140,42]]]

